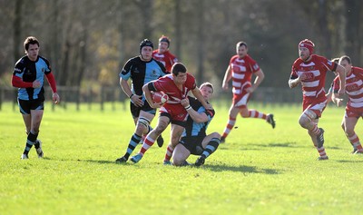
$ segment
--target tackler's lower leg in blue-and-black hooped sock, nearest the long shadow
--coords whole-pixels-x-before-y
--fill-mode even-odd
[[[220,145],[221,134],[218,132],[212,132],[208,134],[201,142],[201,145],[204,151],[201,153],[201,156],[195,161],[196,166],[201,166],[204,164],[205,160],[218,149]]]

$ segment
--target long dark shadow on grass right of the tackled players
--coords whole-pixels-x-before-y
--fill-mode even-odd
[[[255,166],[228,166],[228,165],[210,165],[206,164],[203,168],[211,171],[240,171],[242,173],[262,173],[262,174],[280,174],[281,172],[275,169],[259,169]]]

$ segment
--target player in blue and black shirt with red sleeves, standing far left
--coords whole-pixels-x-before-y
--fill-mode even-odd
[[[17,102],[26,129],[25,150],[21,159],[28,159],[29,151],[35,147],[38,158],[44,157],[42,142],[37,140],[44,113],[44,77],[53,91],[53,101],[60,102],[52,67],[49,61],[39,55],[39,41],[29,36],[24,42],[25,56],[16,64],[12,76],[12,85],[18,88]]]

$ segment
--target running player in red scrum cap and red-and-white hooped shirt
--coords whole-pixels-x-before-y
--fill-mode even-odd
[[[319,117],[327,106],[328,100],[325,94],[325,77],[327,72],[337,72],[340,80],[338,94],[345,93],[345,69],[323,56],[313,54],[315,45],[305,39],[299,43],[299,58],[292,64],[289,78],[289,87],[294,88],[299,83],[302,86],[303,112],[299,117],[299,124],[308,130],[314,146],[319,151],[318,160],[328,160],[327,153],[323,146],[324,130],[318,127]]]

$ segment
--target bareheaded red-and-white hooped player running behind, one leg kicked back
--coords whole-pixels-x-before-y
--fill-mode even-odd
[[[269,122],[272,128],[275,128],[273,114],[258,112],[257,110],[249,110],[247,103],[250,99],[250,94],[253,93],[260,85],[265,75],[248,53],[248,47],[245,42],[239,42],[236,45],[237,54],[231,57],[230,64],[224,74],[222,88],[228,89],[228,83],[232,80],[233,102],[229,112],[229,120],[226,128],[221,136],[221,142],[225,142],[226,137],[231,132],[238,113],[243,118],[258,118]],[[253,85],[250,83],[252,73],[256,75]]]

